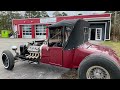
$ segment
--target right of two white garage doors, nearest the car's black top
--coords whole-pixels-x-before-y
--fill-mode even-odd
[[[46,39],[46,25],[36,25],[36,38]]]

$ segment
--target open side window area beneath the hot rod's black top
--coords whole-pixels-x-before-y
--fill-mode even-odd
[[[53,44],[59,43],[63,46],[63,44],[67,42],[71,30],[71,27],[61,27],[49,30],[49,45],[52,46]]]

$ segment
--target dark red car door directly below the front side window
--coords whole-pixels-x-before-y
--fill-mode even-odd
[[[49,63],[62,66],[62,47],[49,47]]]

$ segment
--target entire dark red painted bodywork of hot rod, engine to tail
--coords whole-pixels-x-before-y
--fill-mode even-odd
[[[81,61],[90,54],[106,55],[120,65],[119,57],[111,48],[94,45],[89,42],[73,50],[62,50],[60,47],[48,47],[45,45],[42,48],[40,62],[65,68],[78,68]]]

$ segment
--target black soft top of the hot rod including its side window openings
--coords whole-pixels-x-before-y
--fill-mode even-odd
[[[59,27],[62,27],[61,32],[59,30],[57,31],[55,30]],[[83,43],[88,41],[89,27],[90,27],[89,22],[82,19],[64,20],[64,21],[58,22],[54,25],[49,26],[50,41],[51,40],[55,42],[61,41],[62,47],[64,50],[77,48]],[[58,38],[59,36],[61,37]]]

